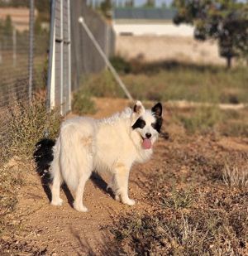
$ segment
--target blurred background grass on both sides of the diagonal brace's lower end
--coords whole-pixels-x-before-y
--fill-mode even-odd
[[[127,63],[122,58],[114,58],[112,64],[135,99],[186,99],[231,104],[248,102],[246,67],[226,70],[215,65],[186,65],[177,62]],[[107,70],[84,80],[83,87],[97,97],[124,96]]]

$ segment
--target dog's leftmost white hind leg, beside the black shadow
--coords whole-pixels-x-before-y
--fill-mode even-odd
[[[51,175],[53,176],[53,184],[51,188],[52,200],[51,205],[62,205],[63,200],[60,198],[60,186],[62,184],[62,176],[60,172],[60,138],[54,147],[54,160],[51,163]]]

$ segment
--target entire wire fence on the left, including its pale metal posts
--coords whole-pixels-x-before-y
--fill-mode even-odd
[[[79,24],[79,17],[84,18],[105,54],[111,56],[114,52],[112,27],[99,13],[87,7],[86,1],[52,0],[50,8],[43,7],[41,12],[37,10],[38,5],[42,7],[38,0],[26,0],[25,6],[18,8],[8,7],[8,4],[2,8],[0,5],[1,147],[8,140],[11,109],[17,103],[29,104],[38,92],[43,99],[48,94],[48,106],[60,108],[60,113],[66,114],[70,110],[70,83],[72,89],[78,89],[83,76],[106,66],[93,41]],[[46,22],[43,17],[46,17]],[[51,31],[53,25],[55,29]],[[54,63],[49,61],[51,56]],[[51,74],[53,65],[54,77]],[[54,84],[53,104],[51,88],[47,88],[51,85],[50,80]]]

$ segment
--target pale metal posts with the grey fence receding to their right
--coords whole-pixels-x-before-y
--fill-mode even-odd
[[[70,93],[79,88],[82,78],[106,67],[79,17],[83,17],[106,56],[114,53],[115,36],[112,27],[85,0],[52,3],[48,103],[50,109],[58,108],[64,115],[70,111]]]

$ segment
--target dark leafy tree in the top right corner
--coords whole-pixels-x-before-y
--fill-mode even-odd
[[[220,55],[231,67],[234,56],[248,57],[248,4],[236,0],[174,0],[174,22],[193,24],[198,40],[218,41]]]

